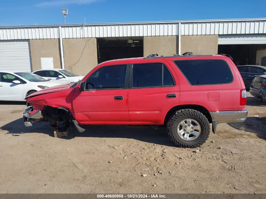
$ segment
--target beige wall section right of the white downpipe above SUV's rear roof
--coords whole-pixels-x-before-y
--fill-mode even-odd
[[[218,35],[184,35],[181,36],[181,54],[217,54]]]

